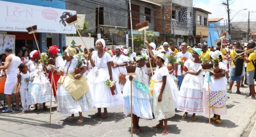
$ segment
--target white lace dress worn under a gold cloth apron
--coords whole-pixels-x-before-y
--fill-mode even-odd
[[[70,62],[67,62],[65,60],[62,66],[60,66],[59,70],[62,71],[64,74],[66,74],[69,64]],[[77,64],[78,64],[78,61],[73,58],[68,68],[68,73],[75,73],[75,68]],[[59,112],[63,115],[70,115],[78,112],[85,112],[86,110],[94,107],[94,103],[93,103],[93,99],[90,91],[88,91],[85,95],[83,95],[81,98],[75,101],[72,95],[69,93],[69,91],[65,89],[65,87],[62,84],[59,84],[57,95],[58,95],[58,109],[59,109]]]

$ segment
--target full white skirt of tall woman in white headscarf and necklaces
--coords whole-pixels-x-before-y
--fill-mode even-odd
[[[96,67],[87,75],[87,82],[92,94],[95,108],[109,108],[123,103],[122,93],[119,84],[116,83],[115,95],[112,95],[105,81],[109,80],[108,68],[100,68],[99,75],[95,76]],[[113,81],[118,81],[114,71],[112,71]]]

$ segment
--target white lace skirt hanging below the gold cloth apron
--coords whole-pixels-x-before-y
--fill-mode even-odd
[[[85,112],[86,110],[93,108],[94,103],[90,91],[79,98],[74,100],[72,95],[63,87],[59,85],[58,93],[58,110],[63,115],[75,114],[78,112]]]

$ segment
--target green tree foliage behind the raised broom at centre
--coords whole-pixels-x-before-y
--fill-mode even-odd
[[[153,39],[157,40],[157,36],[154,34],[154,31],[152,30],[146,32],[146,37],[149,43],[151,43]],[[135,45],[138,45],[139,48],[142,48],[144,45],[144,35],[134,37],[133,42]]]

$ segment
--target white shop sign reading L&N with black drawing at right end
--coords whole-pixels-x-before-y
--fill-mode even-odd
[[[6,1],[0,1],[0,9],[2,31],[27,32],[27,27],[37,25],[41,33],[76,34],[75,27],[65,21],[76,11]]]

